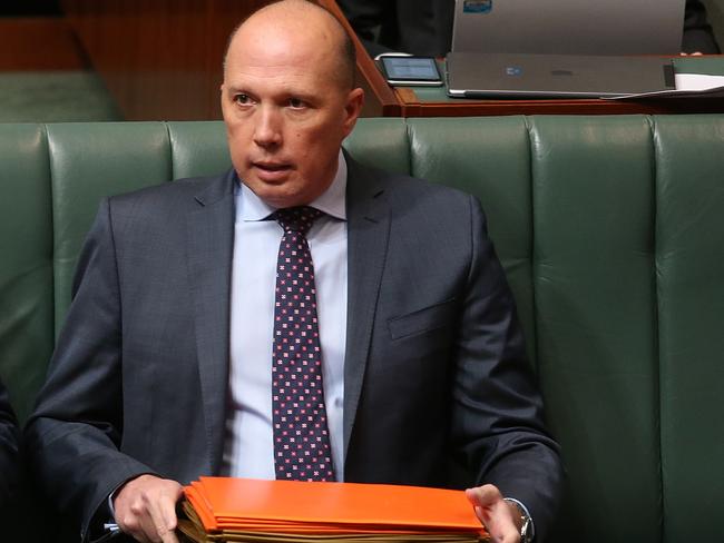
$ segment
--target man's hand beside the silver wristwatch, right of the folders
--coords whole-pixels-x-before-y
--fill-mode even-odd
[[[515,504],[503,500],[497,486],[483,484],[468,488],[466,495],[492,541],[520,543],[520,515]]]

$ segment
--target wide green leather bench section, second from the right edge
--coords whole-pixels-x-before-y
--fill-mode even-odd
[[[626,541],[661,541],[650,127],[538,117],[531,144],[538,368],[568,472],[564,540],[610,541],[632,514]]]

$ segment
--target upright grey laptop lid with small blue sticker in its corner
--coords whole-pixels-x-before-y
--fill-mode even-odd
[[[685,0],[456,0],[452,51],[678,55]]]

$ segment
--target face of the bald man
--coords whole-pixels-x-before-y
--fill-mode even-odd
[[[222,110],[232,162],[274,207],[310,204],[334,179],[363,100],[340,82],[337,51],[324,32],[248,21],[229,47]]]

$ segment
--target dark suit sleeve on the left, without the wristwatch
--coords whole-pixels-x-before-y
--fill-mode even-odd
[[[47,382],[26,426],[39,484],[63,514],[81,522],[84,537],[116,487],[153,473],[119,452],[121,326],[110,207],[104,200],[80,254]]]

